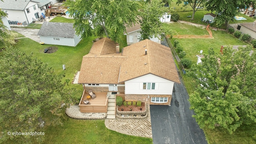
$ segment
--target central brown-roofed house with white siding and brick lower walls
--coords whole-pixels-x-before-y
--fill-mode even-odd
[[[170,105],[174,83],[180,79],[170,48],[148,39],[124,47],[122,53],[109,38],[95,42],[83,56],[78,78],[83,96],[88,90],[118,92],[125,100],[153,105]]]

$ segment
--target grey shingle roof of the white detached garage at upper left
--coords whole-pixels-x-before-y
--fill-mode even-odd
[[[75,29],[72,23],[44,22],[38,32],[39,36],[56,36],[63,38],[74,38]]]

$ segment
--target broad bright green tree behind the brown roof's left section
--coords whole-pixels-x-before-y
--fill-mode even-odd
[[[118,41],[126,26],[137,22],[139,3],[135,0],[67,0],[66,4],[76,33],[83,38],[105,34]]]

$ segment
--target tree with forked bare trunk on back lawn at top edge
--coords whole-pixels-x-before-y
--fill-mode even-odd
[[[191,20],[194,20],[194,16],[198,8],[204,4],[206,0],[177,0],[176,4],[181,4],[183,2],[183,6],[190,6],[193,9],[193,14]]]

